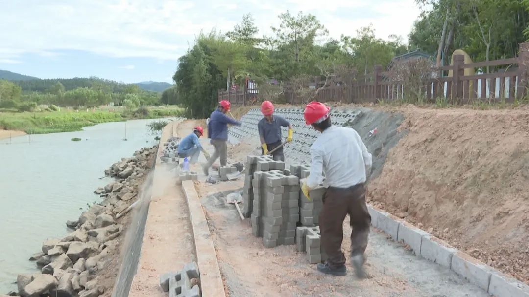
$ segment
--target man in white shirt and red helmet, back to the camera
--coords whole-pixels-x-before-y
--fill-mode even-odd
[[[363,269],[371,216],[366,205],[366,175],[371,169],[371,154],[358,133],[351,128],[333,126],[329,111],[321,102],[305,107],[305,122],[321,135],[311,146],[311,173],[302,185],[309,190],[323,183],[326,188],[320,214],[321,244],[329,256],[318,271],[345,275],[342,252],[343,221],[349,214],[351,232],[351,262],[358,277],[367,277]],[[323,173],[323,175],[322,175]],[[325,176],[325,179],[323,178]]]

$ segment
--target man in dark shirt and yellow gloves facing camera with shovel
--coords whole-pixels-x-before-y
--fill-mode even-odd
[[[290,142],[294,135],[292,125],[285,118],[273,114],[273,104],[268,100],[261,103],[261,112],[265,117],[259,121],[257,128],[261,140],[262,154],[268,155],[269,151],[279,147],[272,153],[272,157],[276,161],[285,161],[283,147],[281,146],[281,127],[288,127],[287,141]]]

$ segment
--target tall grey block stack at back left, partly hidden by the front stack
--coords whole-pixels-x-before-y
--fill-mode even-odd
[[[275,161],[271,156],[248,156],[244,166],[243,209],[244,217],[250,217],[253,209],[252,179],[256,171],[284,170],[285,162]]]

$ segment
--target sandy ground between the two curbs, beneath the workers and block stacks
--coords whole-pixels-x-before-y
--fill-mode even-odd
[[[190,133],[200,121],[185,121],[179,135]],[[184,133],[184,134],[182,134]],[[212,152],[207,139],[202,139]],[[244,161],[255,149],[252,141],[230,147],[229,162]],[[202,158],[202,156],[201,156]],[[200,161],[200,160],[199,160]],[[193,166],[191,169],[193,170]],[[195,167],[197,168],[197,167]],[[318,273],[295,246],[264,248],[262,239],[251,235],[249,220],[243,222],[225,198],[211,194],[239,189],[243,180],[218,184],[205,183],[200,173],[195,186],[202,197],[212,232],[221,273],[230,296],[486,296],[460,277],[439,265],[419,260],[384,234],[372,232],[368,247],[369,280],[358,281],[350,273],[331,277]],[[350,227],[345,224],[345,233]],[[350,239],[343,246],[348,253]]]

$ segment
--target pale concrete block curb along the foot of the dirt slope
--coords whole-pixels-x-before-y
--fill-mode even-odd
[[[371,225],[394,241],[409,245],[416,255],[447,267],[496,297],[529,297],[529,286],[478,261],[441,239],[368,205]]]

